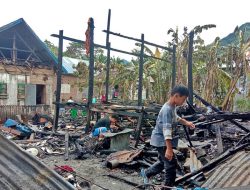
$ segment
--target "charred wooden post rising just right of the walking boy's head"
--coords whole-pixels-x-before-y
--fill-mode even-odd
[[[194,31],[189,33],[188,43],[188,90],[189,90],[189,103],[193,105],[193,40]]]

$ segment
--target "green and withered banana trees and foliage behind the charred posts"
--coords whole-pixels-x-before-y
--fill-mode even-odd
[[[250,23],[241,27],[236,27],[233,34],[220,39],[216,38],[208,46],[200,34],[204,30],[216,27],[213,24],[196,26],[190,31],[195,34],[193,51],[193,78],[194,90],[202,95],[207,101],[221,106],[224,110],[230,110],[234,105],[234,97],[239,92],[238,83],[246,89],[246,78],[249,75],[249,62],[245,59],[245,53],[249,51]],[[167,32],[172,40],[168,43],[169,47],[176,45],[177,62],[177,84],[187,84],[187,55],[189,43],[189,30],[187,27],[180,32],[170,28]],[[233,35],[233,42],[231,37]],[[57,47],[45,41],[46,45],[57,54]],[[140,43],[136,43],[133,53],[139,55]],[[148,56],[144,57],[143,89],[146,91],[146,99],[163,103],[167,100],[172,81],[171,54],[167,51],[155,52],[148,46],[144,46],[144,52],[148,56],[161,58],[156,60]],[[82,44],[70,43],[64,52],[64,56],[86,59],[84,46]],[[107,57],[102,49],[95,49],[95,92],[96,95],[104,93],[106,78]],[[137,96],[139,74],[139,58],[127,62],[119,57],[112,57],[110,64],[110,86],[119,86],[120,97],[122,100],[134,100]],[[76,66],[75,75],[78,77],[77,85],[80,90],[87,88],[88,85],[88,66],[80,62]],[[250,90],[249,90],[250,94]],[[249,102],[249,98],[246,100]],[[244,107],[243,100],[237,100],[241,110]]]

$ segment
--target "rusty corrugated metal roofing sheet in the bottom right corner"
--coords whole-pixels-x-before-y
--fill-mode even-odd
[[[225,188],[250,185],[250,152],[241,151],[215,169],[203,187]]]

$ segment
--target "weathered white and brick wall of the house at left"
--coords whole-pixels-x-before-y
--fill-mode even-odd
[[[0,82],[7,83],[7,97],[0,97],[0,105],[34,105],[36,102],[36,85],[45,85],[43,99],[45,104],[53,105],[56,92],[56,74],[52,69],[34,68],[32,71],[22,67],[0,65]],[[25,83],[26,91],[23,99],[18,99],[18,83]],[[82,93],[76,85],[73,75],[62,75],[61,100],[70,96],[75,101],[82,100]],[[29,94],[28,94],[29,93]]]

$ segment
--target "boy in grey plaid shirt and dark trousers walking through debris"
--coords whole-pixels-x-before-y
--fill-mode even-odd
[[[159,155],[159,160],[147,170],[141,171],[144,178],[144,183],[148,183],[148,178],[160,173],[165,169],[164,185],[174,186],[176,178],[177,160],[174,156],[172,138],[176,128],[176,123],[194,129],[192,122],[180,118],[176,114],[176,106],[182,105],[188,97],[188,89],[185,86],[176,86],[171,91],[171,97],[162,106],[156,126],[151,135],[150,144],[156,147]]]

